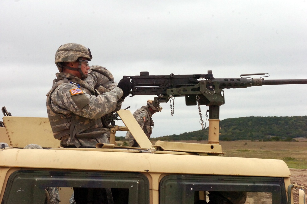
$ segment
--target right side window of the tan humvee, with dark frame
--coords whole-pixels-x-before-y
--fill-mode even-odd
[[[287,203],[283,178],[168,175],[159,189],[160,204]]]

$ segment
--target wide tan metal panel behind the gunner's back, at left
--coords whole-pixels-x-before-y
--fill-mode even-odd
[[[28,144],[59,148],[60,140],[52,135],[49,119],[45,117],[3,117],[4,125],[13,147],[24,148]]]

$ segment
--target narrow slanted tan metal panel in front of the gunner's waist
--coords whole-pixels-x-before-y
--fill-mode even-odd
[[[141,148],[153,148],[150,140],[147,138],[144,131],[131,114],[130,110],[122,109],[117,111],[117,113]]]

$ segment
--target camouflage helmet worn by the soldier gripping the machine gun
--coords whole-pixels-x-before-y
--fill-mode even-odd
[[[87,58],[89,61],[93,58],[89,48],[81,44],[68,43],[58,48],[54,63],[57,65],[59,71],[62,72],[61,62],[76,62],[79,57]]]

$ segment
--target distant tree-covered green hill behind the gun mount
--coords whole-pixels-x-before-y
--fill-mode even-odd
[[[220,128],[221,141],[293,141],[296,137],[307,138],[307,116],[228,118],[220,121]],[[208,129],[151,140],[208,140]]]

